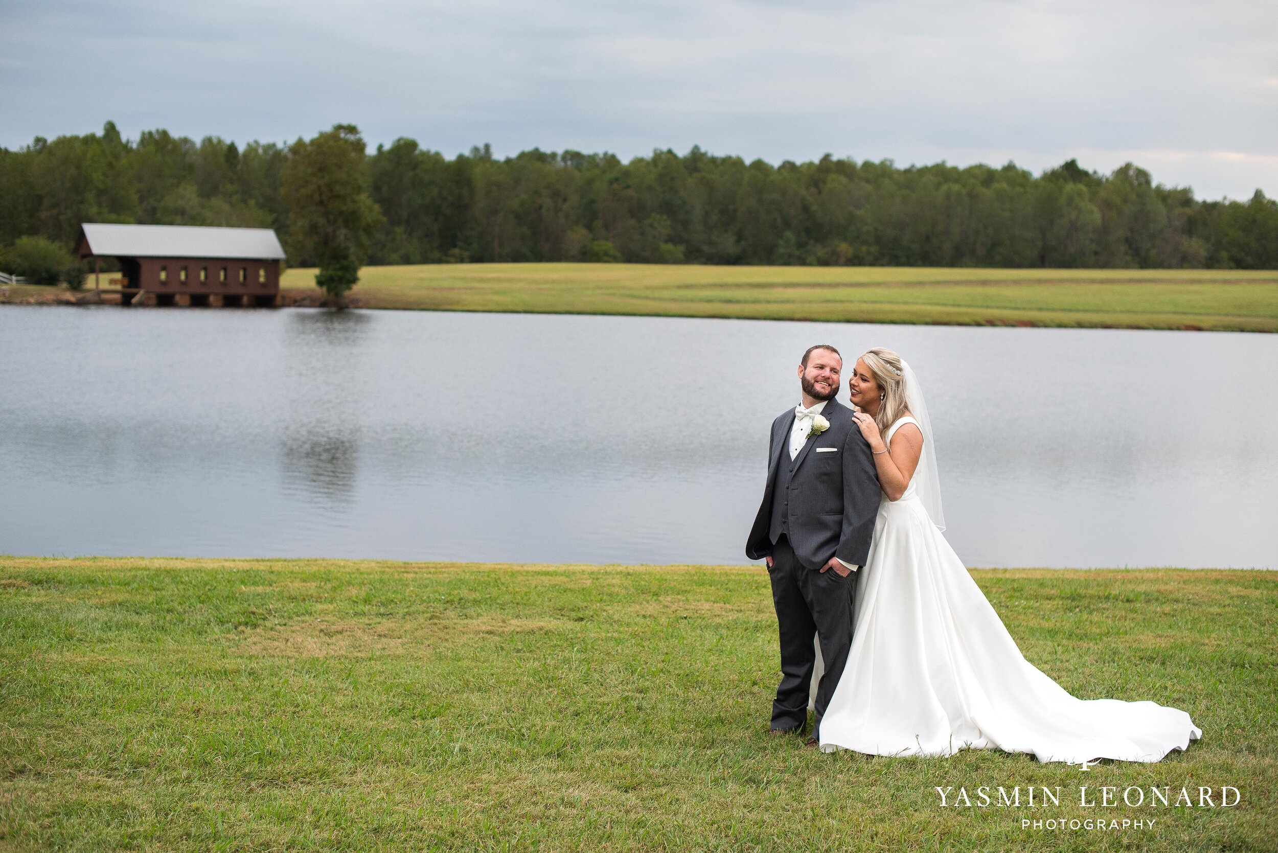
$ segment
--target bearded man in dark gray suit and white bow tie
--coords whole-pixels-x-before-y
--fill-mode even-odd
[[[841,406],[838,350],[809,347],[799,365],[803,405],[772,421],[768,484],[745,555],[768,563],[781,633],[781,684],[772,702],[772,733],[808,721],[808,695],[820,637],[826,674],[817,690],[817,742],[852,645],[852,572],[865,564],[879,483],[870,446]]]

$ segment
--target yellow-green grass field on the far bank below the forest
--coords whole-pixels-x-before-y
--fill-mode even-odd
[[[282,287],[318,294],[314,269]],[[1278,272],[704,267],[590,263],[364,267],[368,308],[863,323],[1278,331]]]

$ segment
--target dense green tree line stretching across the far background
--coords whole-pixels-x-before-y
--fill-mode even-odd
[[[0,148],[0,245],[81,222],[273,227],[294,266],[626,260],[970,267],[1278,267],[1278,203],[1199,200],[1127,163],[898,167],[488,146],[451,160],[351,125],[291,144],[165,130]],[[29,243],[29,241],[28,241]],[[348,285],[349,286],[349,285]]]

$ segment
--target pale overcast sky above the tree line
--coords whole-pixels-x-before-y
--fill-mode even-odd
[[[452,156],[1131,160],[1278,195],[1275,0],[0,0],[0,146],[335,123]]]

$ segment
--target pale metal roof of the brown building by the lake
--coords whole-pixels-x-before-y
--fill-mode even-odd
[[[244,258],[282,260],[271,229],[216,229],[194,225],[106,225],[86,222],[95,255],[139,258]]]

